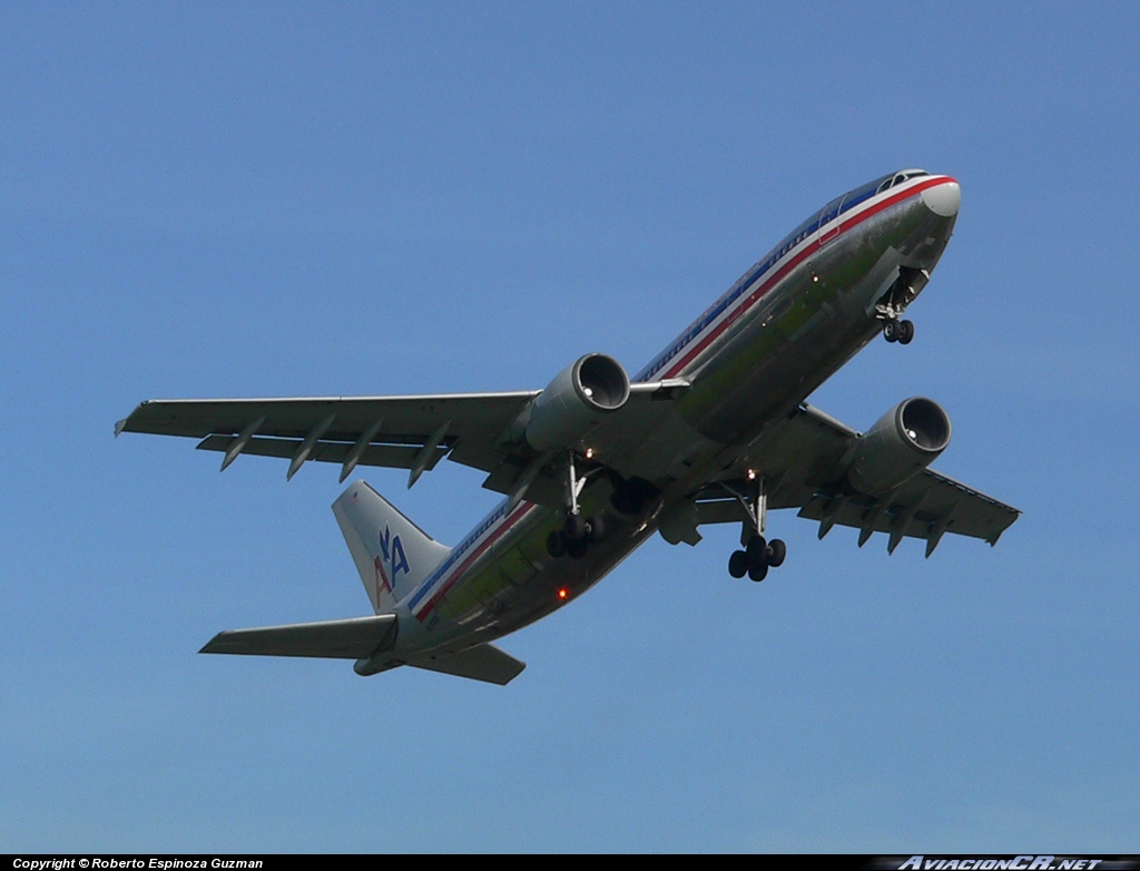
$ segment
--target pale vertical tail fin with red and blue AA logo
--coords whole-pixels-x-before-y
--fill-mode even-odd
[[[451,552],[364,481],[340,495],[333,514],[376,613],[392,610]]]

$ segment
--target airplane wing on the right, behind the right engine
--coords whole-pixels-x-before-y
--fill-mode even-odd
[[[801,405],[750,445],[743,464],[771,482],[769,508],[799,508],[799,516],[820,523],[820,538],[838,524],[860,530],[860,546],[885,532],[888,551],[904,537],[921,538],[934,553],[946,532],[997,543],[1020,512],[952,478],[927,469],[879,496],[852,493],[844,486],[842,461],[856,430],[817,408]],[[718,481],[695,496],[698,523],[741,522],[748,518],[734,494],[747,494],[743,478]]]

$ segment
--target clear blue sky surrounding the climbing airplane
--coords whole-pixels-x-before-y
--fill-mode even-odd
[[[1131,5],[0,6],[9,850],[1135,850]],[[148,397],[636,371],[783,234],[962,184],[914,306],[812,401],[925,394],[1025,511],[936,556],[775,514],[652,540],[508,687],[199,657],[365,613],[335,466],[124,436]],[[443,542],[450,464],[365,477]]]

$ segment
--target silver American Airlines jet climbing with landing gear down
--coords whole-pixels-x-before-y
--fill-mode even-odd
[[[930,556],[946,532],[990,545],[1019,511],[933,471],[951,423],[905,399],[858,432],[806,398],[878,334],[909,344],[901,316],[950,242],[961,194],[910,169],[836,197],[744,272],[632,378],[587,353],[544,390],[404,397],[148,400],[122,432],[201,439],[225,471],[243,454],[408,470],[443,458],[487,473],[503,500],[455,547],[365,481],[333,513],[373,613],[219,633],[201,652],[355,660],[506,684],[526,667],[491,642],[562,608],[654,532],[695,545],[738,523],[728,572],[762,581],[787,546],[767,512],[905,537]]]

